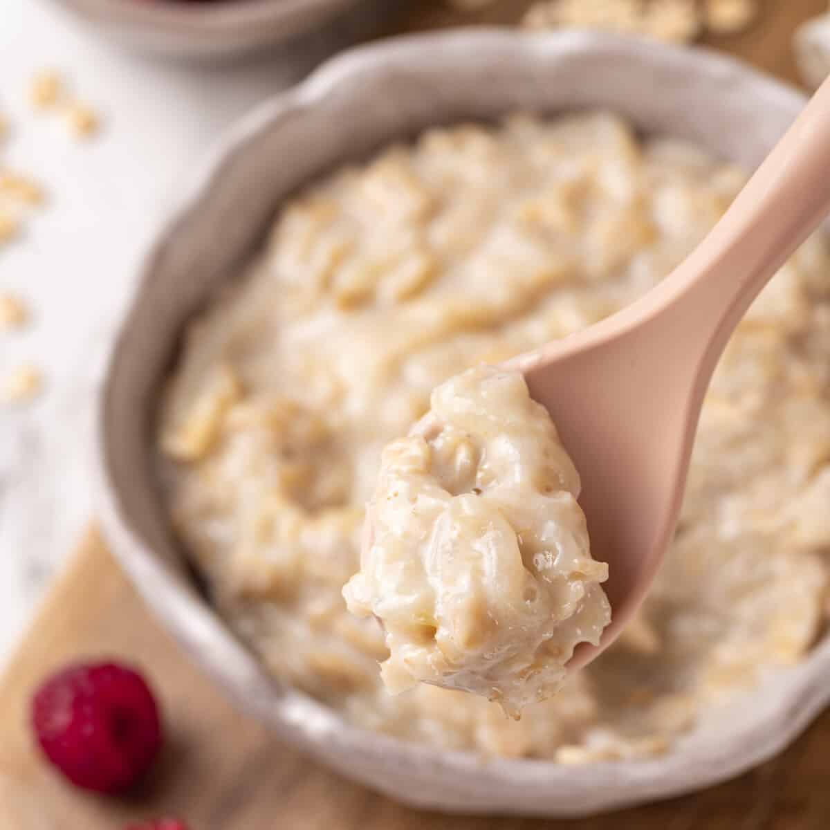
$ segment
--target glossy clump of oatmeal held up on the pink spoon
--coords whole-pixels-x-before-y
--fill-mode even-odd
[[[344,588],[383,623],[389,691],[471,691],[518,716],[558,691],[611,609],[577,504],[579,474],[525,378],[467,369],[383,450],[371,544]]]

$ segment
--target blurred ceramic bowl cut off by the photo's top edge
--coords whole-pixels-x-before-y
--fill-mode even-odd
[[[105,37],[181,58],[222,58],[323,26],[358,0],[53,0]]]

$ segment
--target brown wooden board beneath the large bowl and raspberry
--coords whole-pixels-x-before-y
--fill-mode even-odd
[[[474,19],[512,22],[525,0],[497,2]],[[764,16],[725,48],[795,81],[793,28],[824,0],[767,0]],[[440,2],[415,2],[408,30],[469,21]],[[144,789],[126,800],[63,784],[32,745],[27,705],[48,671],[78,657],[143,666],[161,697],[168,742]],[[115,830],[128,820],[177,815],[193,830],[828,830],[830,713],[788,751],[728,784],[684,798],[580,821],[448,818],[417,813],[349,784],[278,745],[239,715],[154,621],[90,531],[46,598],[0,678],[0,830]]]

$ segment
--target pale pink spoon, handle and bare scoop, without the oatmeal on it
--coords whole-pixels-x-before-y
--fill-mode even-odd
[[[675,530],[715,364],[752,300],[828,212],[830,80],[666,280],[508,364],[559,428],[582,476],[593,556],[609,566],[613,621],[569,667],[608,647],[642,603]]]

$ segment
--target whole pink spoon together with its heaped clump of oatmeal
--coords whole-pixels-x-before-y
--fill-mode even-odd
[[[613,642],[674,533],[720,354],[828,212],[825,81],[641,300],[432,393],[430,412],[383,452],[360,571],[344,588],[349,610],[383,624],[390,691],[427,682],[518,716]]]

